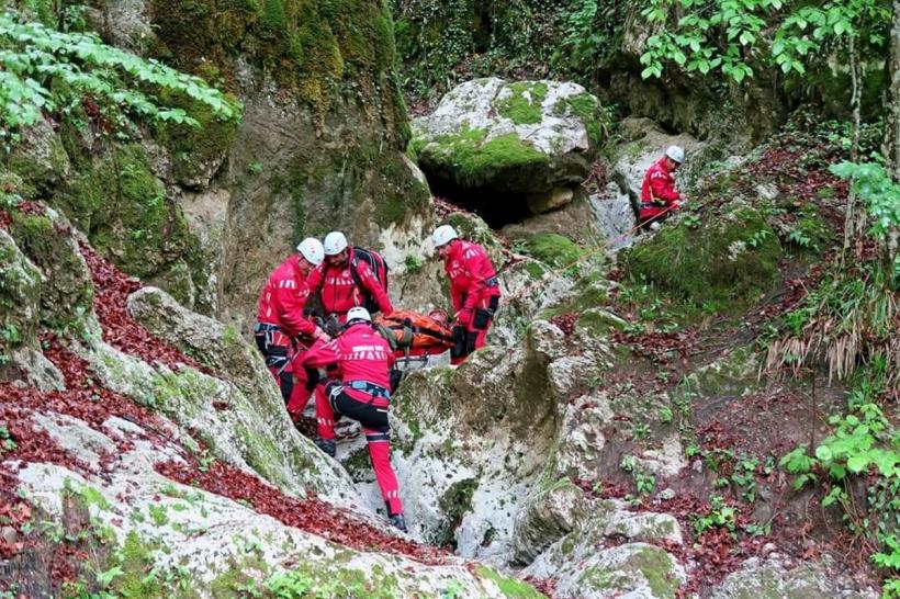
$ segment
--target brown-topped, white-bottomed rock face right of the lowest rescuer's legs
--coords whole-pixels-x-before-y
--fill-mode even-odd
[[[500,556],[555,429],[547,352],[486,348],[412,373],[393,398],[394,465],[420,536]]]

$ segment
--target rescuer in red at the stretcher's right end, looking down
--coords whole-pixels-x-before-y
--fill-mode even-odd
[[[450,300],[455,313],[455,331],[454,331],[459,339],[453,363],[459,363],[484,347],[499,305],[497,271],[483,247],[460,239],[450,225],[436,228],[431,240],[450,278]]]

